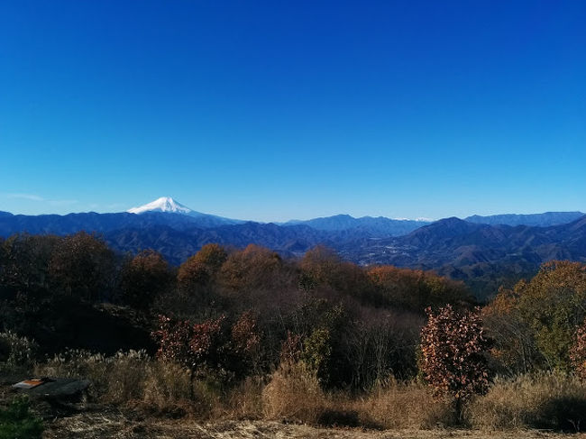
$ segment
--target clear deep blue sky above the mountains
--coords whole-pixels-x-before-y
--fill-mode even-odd
[[[0,3],[0,210],[586,211],[586,2]]]

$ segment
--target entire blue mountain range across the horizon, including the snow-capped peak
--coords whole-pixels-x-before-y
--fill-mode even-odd
[[[533,274],[544,261],[586,261],[586,215],[473,215],[435,222],[334,215],[262,224],[207,215],[169,197],[116,214],[12,215],[0,212],[0,236],[13,233],[104,236],[120,252],[152,248],[179,264],[209,242],[256,243],[294,256],[317,244],[360,263],[436,270],[466,281],[479,296]]]

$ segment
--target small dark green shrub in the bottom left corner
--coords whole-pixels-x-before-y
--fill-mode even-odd
[[[0,439],[41,438],[42,430],[42,421],[31,413],[27,398],[14,398],[0,409]]]

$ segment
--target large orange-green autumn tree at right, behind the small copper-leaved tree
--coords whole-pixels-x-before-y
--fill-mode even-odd
[[[501,289],[483,314],[505,368],[570,370],[575,334],[586,317],[586,265],[545,263],[533,279]]]

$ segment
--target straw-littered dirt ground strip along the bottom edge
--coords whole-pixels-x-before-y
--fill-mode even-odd
[[[145,439],[584,439],[586,434],[554,434],[536,430],[482,432],[471,430],[400,430],[318,428],[267,421],[219,421],[197,423],[179,420],[135,420],[121,413],[83,413],[48,423],[47,439],[145,438]]]

